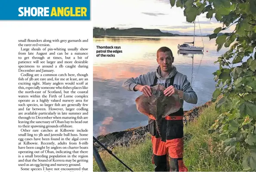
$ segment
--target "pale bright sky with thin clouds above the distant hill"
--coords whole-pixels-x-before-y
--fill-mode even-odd
[[[216,27],[222,27],[215,18],[211,21],[206,18],[206,14],[199,16],[203,35],[213,33]],[[92,20],[94,27],[142,27],[191,34],[194,32],[194,24],[186,22],[183,9],[176,6],[171,8],[170,0],[94,0]],[[226,32],[232,32],[234,28],[235,24]],[[195,33],[200,35],[197,19]]]

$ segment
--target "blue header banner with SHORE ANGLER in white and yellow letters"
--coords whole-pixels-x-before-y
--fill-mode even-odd
[[[90,20],[90,0],[3,0],[0,20]]]

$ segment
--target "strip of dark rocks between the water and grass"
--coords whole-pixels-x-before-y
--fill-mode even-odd
[[[210,106],[211,103],[211,101],[208,101],[202,106],[194,107],[189,111],[184,111],[184,125],[186,125],[190,121],[193,121],[200,114],[200,111],[203,108]],[[98,136],[97,139],[99,140],[99,142],[101,142],[103,145],[111,150],[112,148],[117,146],[129,146],[130,144],[138,144],[140,142],[143,142],[146,137],[150,137],[148,132],[148,125],[101,135]],[[104,150],[104,148],[102,148],[94,140],[93,144],[99,151]]]

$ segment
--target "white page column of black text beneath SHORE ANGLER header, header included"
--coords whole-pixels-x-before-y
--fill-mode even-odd
[[[0,171],[93,171],[91,5],[0,3]]]

